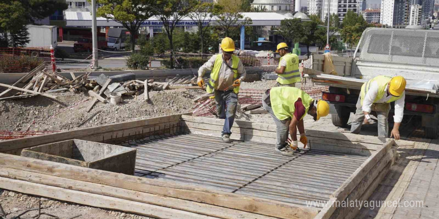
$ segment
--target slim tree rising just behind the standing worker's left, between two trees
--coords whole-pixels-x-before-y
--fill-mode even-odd
[[[221,6],[213,3],[197,4],[188,16],[196,23],[201,40],[201,58],[204,58],[204,37],[210,30],[211,20]]]

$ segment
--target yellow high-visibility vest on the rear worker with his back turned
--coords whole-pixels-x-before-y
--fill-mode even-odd
[[[279,66],[277,69],[280,69],[280,61],[285,59],[286,67],[285,72],[283,74],[277,74],[276,81],[279,84],[287,85],[300,81],[300,72],[299,72],[299,57],[296,54],[288,53],[279,60]]]

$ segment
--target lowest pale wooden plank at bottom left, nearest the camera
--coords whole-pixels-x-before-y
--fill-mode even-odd
[[[3,189],[26,193],[36,196],[57,199],[66,202],[78,203],[97,208],[112,209],[144,215],[148,217],[157,217],[163,219],[175,218],[194,218],[194,219],[216,219],[214,217],[198,215],[180,210],[164,208],[155,205],[149,205],[139,202],[127,201],[108,196],[90,194],[69,189],[62,189],[53,186],[46,186],[36,183],[29,183],[21,180],[0,178],[0,187]]]

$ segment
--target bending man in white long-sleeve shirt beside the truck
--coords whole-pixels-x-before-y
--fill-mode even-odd
[[[390,137],[400,139],[399,127],[403,120],[406,79],[402,76],[377,76],[361,86],[357,102],[355,118],[352,121],[351,133],[359,134],[363,123],[372,123],[370,112],[376,111],[378,118],[378,137],[387,137],[389,123],[387,121],[390,103],[395,102],[395,124]]]

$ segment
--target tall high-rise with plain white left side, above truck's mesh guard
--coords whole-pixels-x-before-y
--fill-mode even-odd
[[[406,27],[406,6],[406,0],[381,0],[381,23],[394,28]]]

